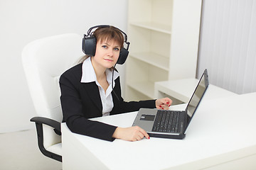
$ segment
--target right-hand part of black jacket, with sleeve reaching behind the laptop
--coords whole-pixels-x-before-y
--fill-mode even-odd
[[[139,111],[139,108],[156,108],[156,100],[146,101],[124,101],[121,96],[119,77],[115,80],[114,91],[112,91],[114,108],[111,114],[127,113],[132,111]]]

